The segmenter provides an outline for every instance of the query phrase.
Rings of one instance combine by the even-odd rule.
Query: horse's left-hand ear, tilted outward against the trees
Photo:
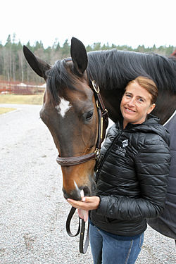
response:
[[[40,58],[37,58],[37,56],[34,56],[32,51],[30,51],[27,46],[23,46],[23,53],[32,70],[46,80],[46,70],[49,70],[51,66],[45,61],[42,61]]]

